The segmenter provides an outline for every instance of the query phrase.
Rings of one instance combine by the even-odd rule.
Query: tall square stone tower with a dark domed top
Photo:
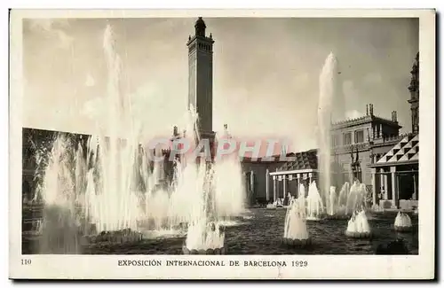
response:
[[[188,37],[188,108],[198,113],[201,136],[212,133],[213,126],[213,39],[205,35],[206,25],[199,17],[195,33]]]

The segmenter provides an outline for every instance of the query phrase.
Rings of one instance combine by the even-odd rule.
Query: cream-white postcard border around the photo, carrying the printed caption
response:
[[[200,267],[118,267],[122,259],[186,259],[187,256],[99,256],[99,255],[30,255],[32,265],[22,266],[21,256],[21,19],[49,17],[419,17],[420,26],[420,190],[419,255],[232,255],[207,256],[218,260],[306,260],[306,269],[291,267],[235,269]],[[101,279],[430,279],[434,276],[434,213],[435,213],[435,14],[431,10],[270,10],[270,11],[13,11],[11,17],[11,104],[10,104],[10,277],[12,278],[101,278]],[[412,59],[413,60],[413,59]],[[188,256],[189,257],[189,256]],[[202,258],[202,257],[194,257]]]

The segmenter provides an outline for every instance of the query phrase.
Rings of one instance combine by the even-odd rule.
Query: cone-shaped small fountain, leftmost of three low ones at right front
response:
[[[312,244],[305,223],[305,206],[300,204],[300,201],[293,201],[287,209],[282,238],[285,245],[300,247]]]

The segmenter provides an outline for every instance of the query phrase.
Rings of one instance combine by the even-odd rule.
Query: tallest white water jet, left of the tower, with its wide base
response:
[[[139,179],[136,169],[147,165],[144,159],[147,155],[139,150],[140,130],[131,118],[129,97],[121,93],[122,64],[115,46],[113,29],[107,25],[103,35],[108,72],[106,131],[102,135],[91,136],[88,144],[87,167],[91,169],[84,201],[86,217],[96,224],[99,231],[136,230],[138,220],[143,217],[139,206],[141,191],[137,191],[139,181],[146,185],[149,183],[147,179]]]

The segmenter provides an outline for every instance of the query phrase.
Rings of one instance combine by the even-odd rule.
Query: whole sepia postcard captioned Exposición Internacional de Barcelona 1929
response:
[[[433,10],[13,10],[10,47],[11,278],[435,276]]]

